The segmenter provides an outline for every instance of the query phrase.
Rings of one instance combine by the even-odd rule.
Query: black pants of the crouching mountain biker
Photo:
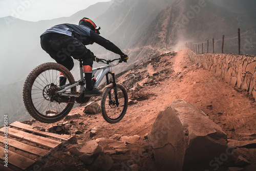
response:
[[[83,66],[93,66],[94,58],[87,53],[87,48],[73,36],[58,33],[46,33],[41,36],[41,47],[57,63],[68,70],[74,67],[74,59],[82,59]],[[72,56],[72,57],[71,57]]]

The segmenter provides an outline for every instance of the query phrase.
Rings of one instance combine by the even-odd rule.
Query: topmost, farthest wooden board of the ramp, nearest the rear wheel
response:
[[[24,129],[26,131],[30,131],[30,132],[33,132],[33,133],[36,133],[36,134],[39,134],[39,135],[45,135],[45,136],[48,136],[48,137],[58,138],[58,139],[61,139],[61,140],[66,140],[66,141],[68,141],[71,138],[71,136],[66,137],[66,135],[62,136],[62,135],[58,135],[58,134],[39,131],[39,130],[34,129],[34,127],[31,126],[31,125],[21,123],[21,122],[17,122],[17,121],[11,123],[10,126],[17,127],[19,129]]]

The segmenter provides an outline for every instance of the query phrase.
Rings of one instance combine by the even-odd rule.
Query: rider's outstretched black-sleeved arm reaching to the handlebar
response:
[[[92,40],[96,42],[96,44],[99,44],[105,49],[112,51],[116,54],[124,55],[124,53],[116,45],[114,45],[113,42],[111,42],[110,40],[107,40],[104,37],[101,37],[100,35],[98,35],[93,31],[91,31],[90,34],[91,34]]]

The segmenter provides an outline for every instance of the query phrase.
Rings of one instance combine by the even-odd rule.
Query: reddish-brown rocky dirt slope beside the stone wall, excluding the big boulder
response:
[[[166,53],[146,60],[135,68],[121,73],[117,80],[130,90],[129,108],[119,123],[109,124],[99,113],[84,113],[84,106],[73,109],[69,118],[56,124],[42,124],[34,120],[27,121],[27,123],[38,129],[58,134],[76,135],[78,144],[95,139],[104,148],[104,152],[111,156],[113,160],[111,170],[125,170],[131,167],[132,170],[136,168],[156,170],[153,149],[146,135],[151,132],[158,113],[176,99],[193,103],[202,110],[222,128],[229,141],[255,140],[256,138],[254,136],[256,132],[254,100],[250,99],[245,92],[233,89],[214,73],[192,63],[185,50],[177,54]],[[100,102],[99,98],[93,100]],[[67,126],[61,129],[62,124]],[[56,130],[58,126],[60,129]],[[119,140],[120,137],[123,137],[121,138],[123,141],[127,140],[127,137],[133,141],[123,143]],[[118,144],[122,145],[118,146]],[[58,166],[62,170],[88,169],[91,165],[82,162],[81,156],[71,150],[73,146],[76,145],[67,145],[63,151],[56,152],[54,156],[58,157],[54,157],[43,168],[57,170],[53,167]],[[98,149],[97,145],[96,148]],[[219,165],[218,170],[227,170],[228,167],[237,166],[236,160],[241,156],[250,164],[241,165],[240,163],[240,167],[252,171],[256,166],[255,153],[253,143],[251,146],[240,144],[234,150],[231,163]],[[104,158],[104,160],[107,159]],[[108,160],[112,162],[110,158]],[[201,169],[189,170],[212,168],[209,165]]]

